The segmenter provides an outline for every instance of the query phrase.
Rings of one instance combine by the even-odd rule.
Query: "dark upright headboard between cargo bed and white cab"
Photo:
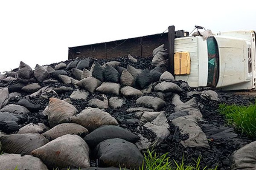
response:
[[[175,40],[175,26],[169,26],[168,28],[168,57],[169,64],[168,70],[169,72],[175,76],[174,74],[174,40]]]

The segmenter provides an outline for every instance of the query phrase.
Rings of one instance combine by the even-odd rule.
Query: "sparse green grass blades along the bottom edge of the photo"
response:
[[[195,161],[195,165],[185,164],[184,159],[178,163],[174,161],[172,164],[171,158],[168,157],[168,153],[165,153],[161,156],[157,156],[154,150],[148,150],[148,153],[144,153],[143,167],[140,170],[217,170],[217,166],[213,169],[208,169],[207,167],[200,167],[201,156],[198,157]]]

